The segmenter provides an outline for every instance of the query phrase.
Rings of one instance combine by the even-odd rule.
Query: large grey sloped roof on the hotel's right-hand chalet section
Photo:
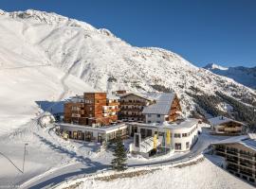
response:
[[[143,109],[144,114],[164,114],[167,115],[170,112],[171,105],[174,100],[174,93],[160,94],[155,100],[155,104],[145,107]]]

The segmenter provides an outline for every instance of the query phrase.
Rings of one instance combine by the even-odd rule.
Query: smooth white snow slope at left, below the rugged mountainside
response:
[[[52,66],[40,46],[27,42],[25,29],[25,24],[0,16],[0,134],[35,117],[38,101],[58,101],[93,90],[80,78]]]

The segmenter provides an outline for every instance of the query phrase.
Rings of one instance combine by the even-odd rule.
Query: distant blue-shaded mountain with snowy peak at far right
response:
[[[220,65],[210,63],[204,67],[210,72],[234,79],[247,87],[256,89],[256,66],[247,68],[244,66],[225,68]]]

